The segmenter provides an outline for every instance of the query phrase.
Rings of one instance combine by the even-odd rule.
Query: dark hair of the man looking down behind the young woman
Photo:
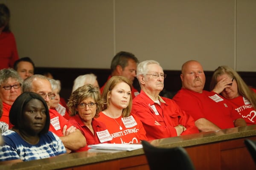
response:
[[[113,57],[111,61],[111,71],[113,72],[114,70],[116,70],[117,65],[120,65],[122,69],[124,69],[128,65],[128,59],[132,59],[136,63],[139,62],[139,60],[137,59],[137,57],[135,57],[134,54],[125,51],[120,51]]]

